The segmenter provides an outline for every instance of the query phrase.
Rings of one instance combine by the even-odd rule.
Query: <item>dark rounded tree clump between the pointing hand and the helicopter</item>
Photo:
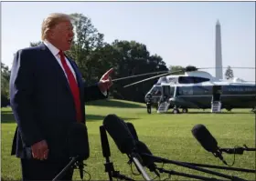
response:
[[[115,78],[168,70],[162,57],[150,55],[144,44],[135,41],[115,40],[112,47],[112,55],[115,56],[112,63],[116,65]],[[123,88],[123,85],[129,85],[152,76],[154,75],[144,75],[117,82],[113,85],[113,89],[118,95],[116,94],[114,97],[118,96],[118,98],[124,97],[127,100],[144,102],[144,95],[155,84],[156,78],[127,88]]]

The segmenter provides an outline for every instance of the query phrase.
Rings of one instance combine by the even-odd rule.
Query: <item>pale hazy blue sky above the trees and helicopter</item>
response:
[[[2,2],[1,61],[40,40],[40,25],[53,12],[80,13],[112,43],[135,40],[166,65],[215,66],[215,25],[219,19],[223,66],[255,67],[254,2]],[[208,70],[215,75],[214,70]],[[223,70],[223,74],[225,69]],[[255,70],[234,69],[255,80]]]

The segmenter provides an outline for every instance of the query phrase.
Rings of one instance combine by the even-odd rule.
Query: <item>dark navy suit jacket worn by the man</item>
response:
[[[69,59],[80,87],[83,123],[84,103],[103,99],[98,85],[86,86],[78,66]],[[76,121],[68,80],[55,56],[44,44],[16,52],[10,78],[10,102],[17,128],[12,153],[31,156],[30,146],[47,140],[48,157],[67,156],[67,132]]]

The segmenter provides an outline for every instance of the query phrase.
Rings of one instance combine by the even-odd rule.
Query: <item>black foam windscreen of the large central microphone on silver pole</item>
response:
[[[135,147],[133,136],[121,118],[116,115],[108,115],[103,120],[103,126],[123,154],[131,154],[133,152]]]

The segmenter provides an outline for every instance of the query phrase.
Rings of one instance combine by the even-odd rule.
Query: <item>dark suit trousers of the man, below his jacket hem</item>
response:
[[[56,161],[37,159],[21,159],[22,180],[53,180],[59,172],[69,164],[69,160]],[[73,169],[71,168],[61,180],[72,180]]]

